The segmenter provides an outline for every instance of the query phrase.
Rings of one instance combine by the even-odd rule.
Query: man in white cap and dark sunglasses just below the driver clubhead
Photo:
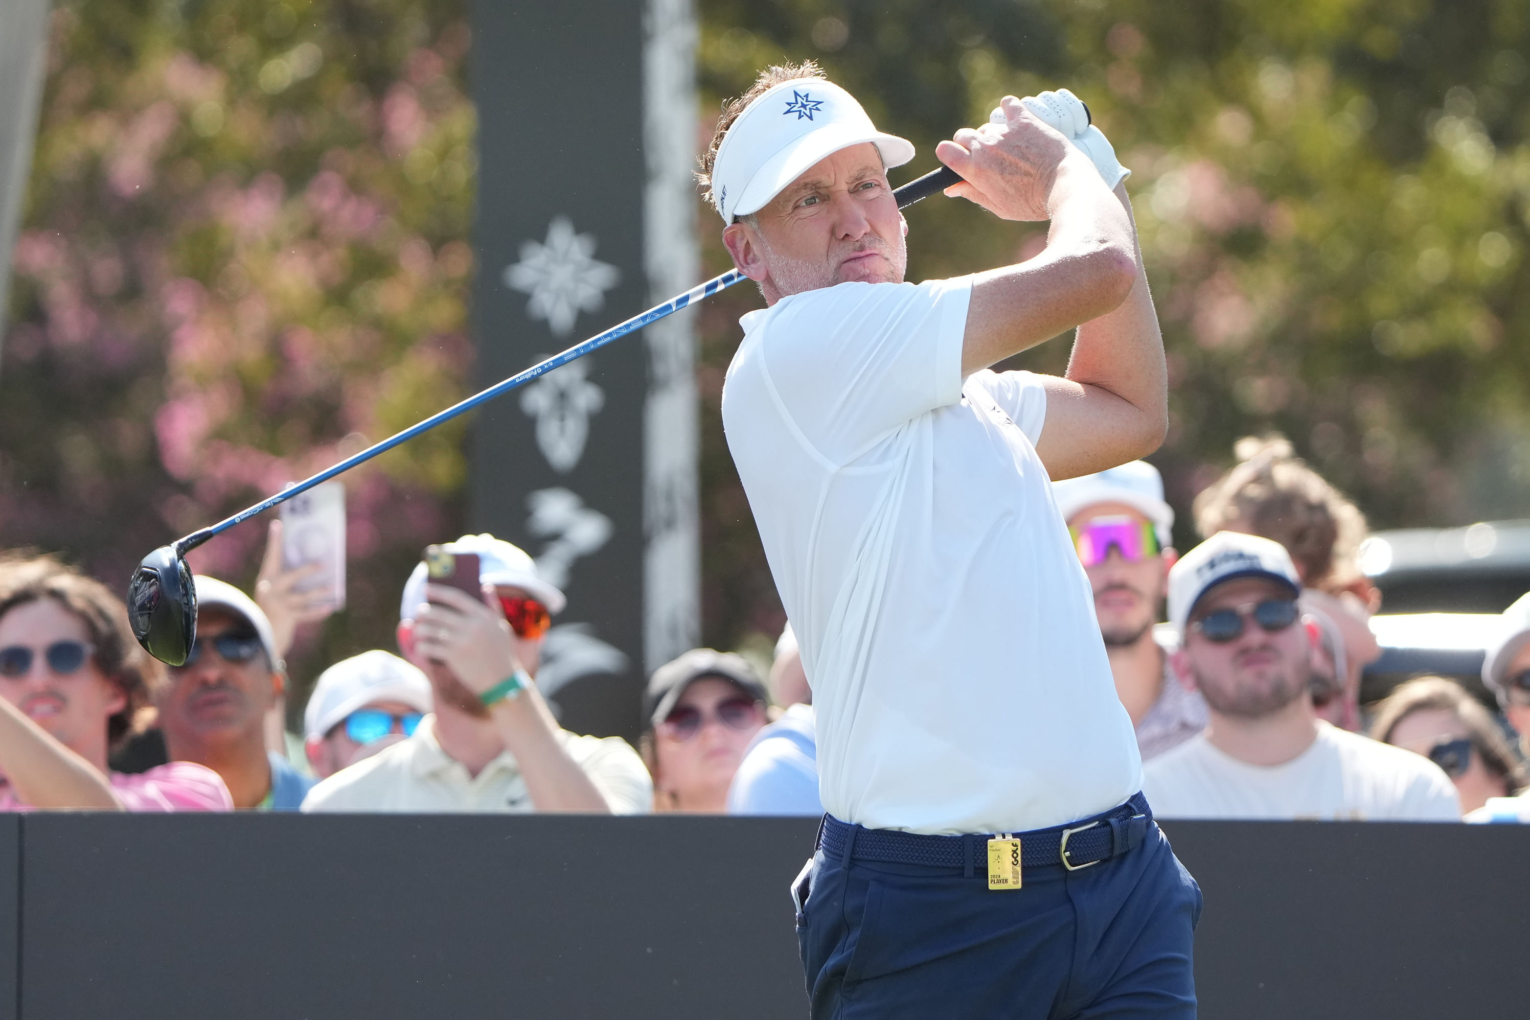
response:
[[[196,577],[196,641],[155,699],[173,760],[223,777],[234,806],[297,810],[314,780],[266,749],[266,714],[286,688],[271,621],[233,584]]]

